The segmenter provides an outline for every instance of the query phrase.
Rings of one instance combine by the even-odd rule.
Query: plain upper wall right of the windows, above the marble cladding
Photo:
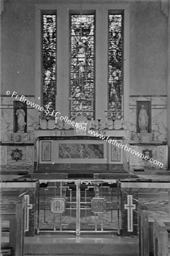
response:
[[[167,18],[159,1],[130,6],[130,95],[166,95]]]

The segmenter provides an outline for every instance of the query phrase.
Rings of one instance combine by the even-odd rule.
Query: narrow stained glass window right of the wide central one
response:
[[[109,118],[122,117],[122,15],[109,15]]]

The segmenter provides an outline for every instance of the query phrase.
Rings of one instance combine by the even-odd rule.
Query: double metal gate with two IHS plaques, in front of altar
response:
[[[39,180],[37,234],[120,233],[117,180]]]

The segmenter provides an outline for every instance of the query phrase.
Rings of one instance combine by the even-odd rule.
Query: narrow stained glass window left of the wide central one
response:
[[[43,106],[50,112],[56,109],[56,30],[56,15],[42,15]]]

